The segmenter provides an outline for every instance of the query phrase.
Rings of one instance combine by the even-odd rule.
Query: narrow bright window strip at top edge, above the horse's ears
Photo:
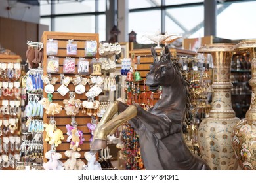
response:
[[[129,9],[148,8],[161,6],[161,0],[147,1],[147,0],[129,0]]]

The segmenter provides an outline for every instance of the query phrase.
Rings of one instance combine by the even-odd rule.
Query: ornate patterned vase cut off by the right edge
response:
[[[249,51],[251,57],[251,105],[246,116],[234,126],[232,144],[242,169],[256,169],[256,39],[241,41],[235,50]]]

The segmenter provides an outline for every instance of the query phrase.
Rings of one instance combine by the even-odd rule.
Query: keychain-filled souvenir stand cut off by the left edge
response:
[[[20,63],[20,56],[0,55],[0,169],[15,169],[20,161]]]

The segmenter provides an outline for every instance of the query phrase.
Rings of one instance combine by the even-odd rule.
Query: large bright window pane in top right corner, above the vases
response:
[[[225,39],[255,38],[256,2],[232,3],[217,16],[217,37]]]

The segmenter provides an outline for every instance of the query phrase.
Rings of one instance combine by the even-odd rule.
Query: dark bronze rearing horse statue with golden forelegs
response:
[[[189,88],[179,63],[171,60],[168,46],[160,57],[154,48],[151,52],[154,62],[146,75],[146,85],[153,92],[162,86],[161,99],[148,111],[137,103],[129,106],[121,101],[111,103],[95,129],[91,150],[105,148],[107,135],[129,120],[139,134],[140,154],[146,169],[210,169],[199,156],[190,152],[183,139]],[[112,118],[117,112],[121,114]]]

